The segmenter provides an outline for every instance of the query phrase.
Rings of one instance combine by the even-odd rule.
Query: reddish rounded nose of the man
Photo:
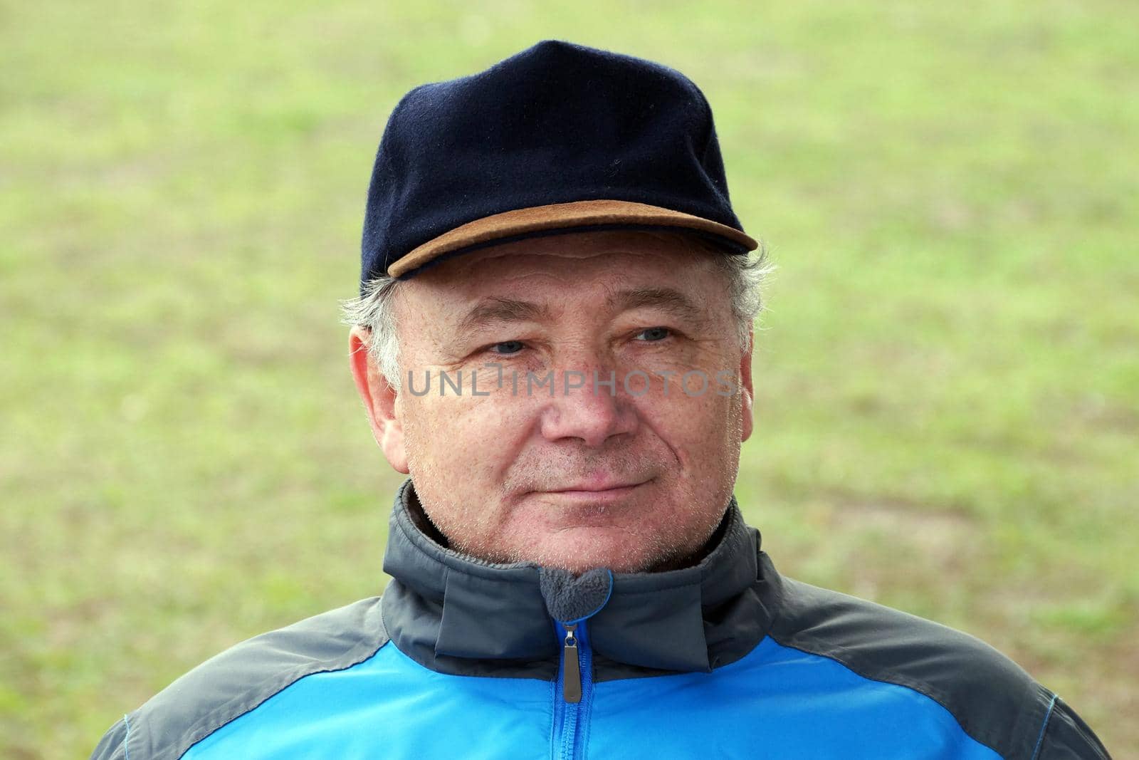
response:
[[[554,398],[541,416],[547,440],[572,438],[600,448],[613,436],[637,432],[637,410],[615,370],[597,365],[565,369],[554,373]]]

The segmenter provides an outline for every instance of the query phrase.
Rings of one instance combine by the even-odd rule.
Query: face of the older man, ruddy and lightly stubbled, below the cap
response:
[[[680,235],[464,254],[400,286],[399,393],[353,332],[358,387],[453,548],[572,572],[667,567],[711,537],[752,431],[751,350],[726,285]]]

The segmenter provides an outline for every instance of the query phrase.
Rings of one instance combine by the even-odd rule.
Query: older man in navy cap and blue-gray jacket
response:
[[[678,72],[547,41],[409,92],[351,365],[409,474],[383,599],[251,639],[97,758],[1106,758],[992,648],[780,577],[732,496],[763,256]]]

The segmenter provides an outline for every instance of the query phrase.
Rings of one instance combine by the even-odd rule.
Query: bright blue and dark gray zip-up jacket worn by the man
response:
[[[713,541],[661,573],[489,564],[431,538],[408,480],[383,599],[208,660],[92,757],[1108,757],[980,640],[780,577],[735,499]]]

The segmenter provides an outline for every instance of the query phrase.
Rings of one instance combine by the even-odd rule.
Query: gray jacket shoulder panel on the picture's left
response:
[[[207,660],[115,724],[92,760],[177,760],[312,673],[344,670],[388,640],[379,597],[262,634]]]

